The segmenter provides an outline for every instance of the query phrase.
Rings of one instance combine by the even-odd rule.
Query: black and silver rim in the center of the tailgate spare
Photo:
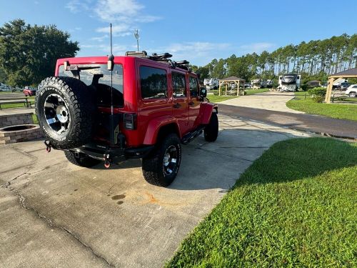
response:
[[[58,94],[50,94],[44,101],[44,116],[49,128],[57,134],[64,134],[69,129],[71,117],[64,99]]]

